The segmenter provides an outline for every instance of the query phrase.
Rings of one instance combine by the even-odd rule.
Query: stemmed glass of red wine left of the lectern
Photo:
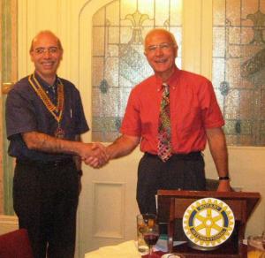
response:
[[[145,225],[143,228],[143,238],[149,248],[149,257],[152,257],[153,247],[155,246],[159,238],[159,226],[157,224],[155,214],[144,214],[143,215]]]

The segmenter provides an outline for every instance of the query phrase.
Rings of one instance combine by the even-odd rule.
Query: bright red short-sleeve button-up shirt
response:
[[[201,75],[176,68],[170,85],[171,144],[173,153],[201,151],[206,146],[206,129],[224,125],[212,83]],[[140,136],[140,150],[157,154],[157,132],[163,88],[151,76],[133,87],[120,132]]]

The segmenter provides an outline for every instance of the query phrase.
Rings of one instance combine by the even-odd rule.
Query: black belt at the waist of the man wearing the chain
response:
[[[16,162],[18,164],[34,166],[34,167],[39,167],[40,169],[43,169],[43,170],[48,170],[48,169],[64,167],[66,165],[69,165],[70,163],[73,163],[73,160],[72,158],[67,158],[67,159],[61,159],[61,160],[55,160],[55,161],[49,161],[49,162],[41,162],[41,161],[17,159]]]

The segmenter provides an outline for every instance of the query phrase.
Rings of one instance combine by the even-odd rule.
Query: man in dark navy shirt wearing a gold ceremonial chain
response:
[[[63,48],[42,31],[30,49],[33,74],[19,80],[6,100],[9,155],[16,158],[13,204],[34,257],[72,258],[81,160],[107,160],[99,143],[83,143],[89,128],[79,91],[57,76]]]

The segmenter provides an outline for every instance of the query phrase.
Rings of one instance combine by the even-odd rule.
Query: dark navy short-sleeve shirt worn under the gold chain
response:
[[[47,84],[37,74],[35,77],[46,90]],[[86,133],[89,128],[78,89],[70,81],[60,80],[64,85],[64,111],[60,127],[64,130],[65,140],[74,140],[76,135]],[[57,120],[30,85],[28,76],[19,80],[7,95],[5,118],[7,138],[10,140],[10,156],[42,162],[69,157],[66,154],[50,154],[28,149],[22,139],[21,133],[34,131],[54,136],[58,127]]]

